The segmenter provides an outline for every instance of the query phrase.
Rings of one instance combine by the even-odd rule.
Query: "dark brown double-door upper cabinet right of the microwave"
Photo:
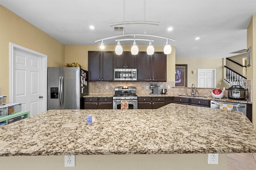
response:
[[[166,81],[166,54],[155,52],[148,55],[146,52],[140,52],[137,68],[138,81]]]

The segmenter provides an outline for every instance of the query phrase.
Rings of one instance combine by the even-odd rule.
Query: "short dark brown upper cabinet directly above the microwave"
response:
[[[136,69],[137,55],[132,55],[130,51],[123,51],[121,55],[114,54],[115,69]]]

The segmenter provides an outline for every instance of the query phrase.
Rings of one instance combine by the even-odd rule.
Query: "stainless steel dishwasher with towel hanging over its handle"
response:
[[[211,101],[211,108],[220,109],[220,103],[233,105],[233,111],[238,111],[244,113],[246,115],[246,104],[244,103],[232,103],[232,102],[224,102],[224,101]]]

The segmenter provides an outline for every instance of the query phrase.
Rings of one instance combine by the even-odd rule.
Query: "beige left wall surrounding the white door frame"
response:
[[[9,96],[9,43],[47,55],[48,67],[64,65],[64,44],[0,5],[0,87]]]

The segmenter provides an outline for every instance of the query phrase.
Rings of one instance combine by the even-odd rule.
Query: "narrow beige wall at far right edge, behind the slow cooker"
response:
[[[256,125],[256,14],[254,14],[251,18],[250,24],[247,28],[247,48],[251,46],[251,66],[247,67],[247,83],[248,87],[250,87],[251,99],[252,99],[252,123]],[[254,73],[254,74],[253,74]],[[254,81],[253,81],[254,79]]]

